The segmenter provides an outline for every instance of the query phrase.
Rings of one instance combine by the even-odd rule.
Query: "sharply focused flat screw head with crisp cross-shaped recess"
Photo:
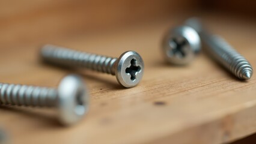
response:
[[[136,86],[144,73],[144,62],[134,51],[124,52],[115,65],[115,76],[118,82],[126,88]]]

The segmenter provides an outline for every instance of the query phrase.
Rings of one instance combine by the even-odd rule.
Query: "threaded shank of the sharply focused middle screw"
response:
[[[114,68],[117,58],[79,52],[78,50],[52,45],[46,45],[41,49],[41,57],[44,61],[53,62],[55,64],[85,67],[102,73],[115,75]]]

